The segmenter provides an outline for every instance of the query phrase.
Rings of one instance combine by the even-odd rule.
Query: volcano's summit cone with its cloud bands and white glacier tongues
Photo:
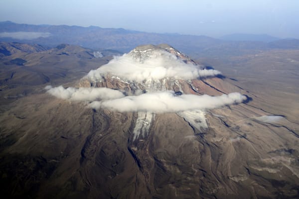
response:
[[[133,130],[135,140],[139,136],[140,139],[145,139],[148,135],[155,113],[177,113],[192,123],[192,127],[201,129],[208,127],[204,117],[205,109],[246,100],[246,96],[240,93],[209,96],[207,94],[213,92],[207,91],[212,87],[208,88],[206,85],[201,87],[206,90],[202,95],[195,85],[207,84],[202,79],[219,74],[221,73],[217,70],[197,65],[169,45],[144,45],[90,71],[79,82],[78,89],[46,89],[49,89],[48,93],[51,95],[62,99],[92,100],[88,106],[95,109],[138,112]],[[82,85],[89,88],[82,88]]]

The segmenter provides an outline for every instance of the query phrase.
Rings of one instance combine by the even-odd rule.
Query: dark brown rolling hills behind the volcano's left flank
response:
[[[10,52],[0,59],[0,104],[43,93],[42,89],[49,84],[73,85],[90,70],[112,59],[112,56],[95,58],[89,49],[66,44],[52,49],[38,46],[35,51],[32,49],[36,46],[28,44],[1,42],[0,47]]]

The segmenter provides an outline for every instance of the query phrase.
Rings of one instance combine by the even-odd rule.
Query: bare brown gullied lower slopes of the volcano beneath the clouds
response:
[[[93,110],[43,92],[15,100],[0,114],[1,193],[49,199],[297,198],[299,125],[289,119],[292,114],[278,123],[258,121],[279,109],[264,108],[267,95],[252,93],[252,85],[232,83],[243,82],[193,81],[199,93],[252,98],[207,111],[208,129],[196,129],[175,113],[156,114],[149,134],[135,141],[138,113]]]

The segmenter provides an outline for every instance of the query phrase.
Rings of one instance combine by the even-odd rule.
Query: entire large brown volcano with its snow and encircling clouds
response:
[[[47,53],[74,58],[68,48]],[[44,84],[2,110],[3,196],[299,195],[299,124],[258,106],[262,95],[220,71],[160,44],[138,46],[82,76]]]

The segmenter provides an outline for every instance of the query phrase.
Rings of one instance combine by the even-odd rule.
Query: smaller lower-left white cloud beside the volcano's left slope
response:
[[[125,97],[120,91],[108,88],[73,88],[46,86],[47,93],[64,100],[94,101]]]

